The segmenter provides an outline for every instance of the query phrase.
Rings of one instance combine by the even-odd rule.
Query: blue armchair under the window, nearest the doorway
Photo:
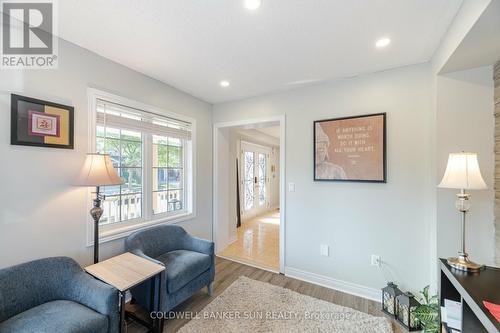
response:
[[[127,251],[166,266],[162,275],[161,311],[170,311],[201,288],[212,294],[215,276],[214,243],[190,236],[182,227],[163,225],[138,231],[125,240]],[[150,306],[151,282],[131,290],[144,308]]]

